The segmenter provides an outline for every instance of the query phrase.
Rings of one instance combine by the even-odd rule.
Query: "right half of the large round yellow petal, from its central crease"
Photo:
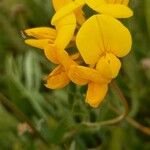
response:
[[[105,49],[118,57],[124,57],[132,46],[129,30],[117,19],[107,15],[98,15]]]

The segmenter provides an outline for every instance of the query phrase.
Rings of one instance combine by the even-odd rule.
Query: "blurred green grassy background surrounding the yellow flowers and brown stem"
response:
[[[129,116],[150,127],[150,0],[131,0],[134,17],[125,20],[133,36],[132,52],[116,79]],[[122,105],[110,89],[104,103],[92,109],[85,87],[70,84],[48,90],[43,78],[53,65],[41,50],[24,44],[22,30],[50,26],[50,0],[0,0],[0,150],[150,150],[150,135],[126,119],[116,125],[85,127],[117,116]]]

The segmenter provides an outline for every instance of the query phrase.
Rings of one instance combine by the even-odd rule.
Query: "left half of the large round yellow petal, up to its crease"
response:
[[[105,51],[101,32],[101,26],[94,15],[82,25],[77,34],[76,44],[87,64],[95,64]]]

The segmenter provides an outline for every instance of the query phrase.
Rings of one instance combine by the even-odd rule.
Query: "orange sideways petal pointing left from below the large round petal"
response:
[[[99,84],[110,82],[108,79],[103,78],[101,74],[95,69],[79,65],[72,65],[69,69],[68,76],[76,84],[78,84],[76,82],[77,79],[85,81],[93,81]]]

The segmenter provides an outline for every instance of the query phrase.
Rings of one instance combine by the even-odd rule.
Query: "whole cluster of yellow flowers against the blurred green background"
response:
[[[46,87],[58,89],[70,81],[88,86],[86,102],[98,107],[108,84],[121,68],[120,57],[131,50],[129,30],[118,20],[133,15],[129,0],[52,0],[56,11],[51,24],[25,30],[28,45],[40,48],[58,66],[48,75]],[[83,7],[96,13],[85,17]],[[71,53],[70,48],[76,49]]]

